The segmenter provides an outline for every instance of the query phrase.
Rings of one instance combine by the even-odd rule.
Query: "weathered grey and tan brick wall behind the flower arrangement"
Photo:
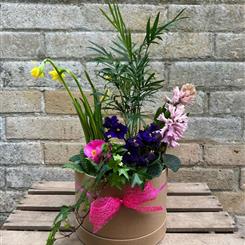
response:
[[[101,2],[101,1],[97,1]],[[134,0],[122,11],[142,37],[145,20],[186,8],[191,17],[153,48],[152,67],[166,82],[194,83],[198,98],[189,130],[176,150],[183,161],[176,181],[205,181],[226,209],[245,213],[245,38],[243,0]],[[132,4],[129,4],[131,2]],[[82,142],[79,121],[58,83],[30,76],[32,61],[46,56],[82,71],[96,68],[89,40],[107,46],[115,36],[96,1],[3,1],[0,29],[0,219],[33,181],[67,180],[60,166]],[[92,75],[98,86],[101,81]],[[88,88],[87,83],[83,83]],[[146,105],[149,113],[163,101]]]

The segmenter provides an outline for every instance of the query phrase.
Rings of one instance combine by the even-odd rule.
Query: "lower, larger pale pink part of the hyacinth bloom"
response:
[[[183,137],[187,129],[188,117],[185,113],[184,105],[171,105],[168,108],[170,118],[166,118],[164,113],[160,114],[157,120],[165,123],[165,126],[159,130],[162,141],[171,147],[176,147],[178,140]]]

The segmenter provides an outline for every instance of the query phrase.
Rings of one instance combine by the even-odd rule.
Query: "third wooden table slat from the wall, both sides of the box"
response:
[[[50,229],[57,212],[16,210],[3,225],[9,230]],[[168,232],[234,232],[235,223],[227,212],[168,213]]]

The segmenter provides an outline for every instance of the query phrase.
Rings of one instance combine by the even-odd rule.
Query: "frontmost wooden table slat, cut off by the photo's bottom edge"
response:
[[[0,231],[1,245],[44,245],[48,232]],[[1,241],[1,240],[0,240]],[[55,245],[82,245],[76,234],[59,239]],[[235,234],[166,234],[158,245],[244,245],[245,241]]]

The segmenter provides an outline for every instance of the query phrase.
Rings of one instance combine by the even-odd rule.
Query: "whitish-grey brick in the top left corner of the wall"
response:
[[[79,6],[3,3],[2,27],[11,29],[82,28],[84,18]]]

